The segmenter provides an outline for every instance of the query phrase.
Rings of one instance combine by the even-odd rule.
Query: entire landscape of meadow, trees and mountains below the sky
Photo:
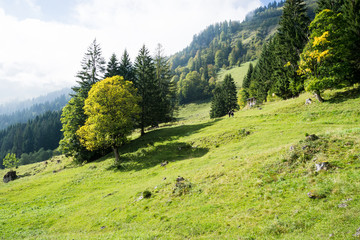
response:
[[[360,238],[359,0],[153,50],[94,39],[71,91],[1,113],[0,239]]]

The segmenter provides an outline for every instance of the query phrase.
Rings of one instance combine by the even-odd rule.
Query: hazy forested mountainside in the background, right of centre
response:
[[[276,27],[284,2],[270,3],[251,13],[246,21],[224,21],[195,35],[191,44],[171,57],[180,104],[207,99],[221,68],[240,66],[257,58]]]

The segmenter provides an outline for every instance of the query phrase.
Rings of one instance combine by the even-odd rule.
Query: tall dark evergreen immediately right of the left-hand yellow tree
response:
[[[149,50],[143,45],[135,60],[135,87],[141,96],[140,128],[141,135],[145,127],[158,124],[158,103],[161,102],[160,89],[156,81],[155,65]]]

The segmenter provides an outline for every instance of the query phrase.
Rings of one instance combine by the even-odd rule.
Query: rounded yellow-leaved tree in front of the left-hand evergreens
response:
[[[114,76],[95,83],[85,100],[85,125],[78,131],[88,150],[111,147],[119,162],[118,148],[127,141],[140,113],[140,97],[132,82]]]

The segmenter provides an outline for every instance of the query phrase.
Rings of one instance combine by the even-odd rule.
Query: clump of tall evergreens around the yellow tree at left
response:
[[[114,103],[109,103],[109,101],[100,103],[94,100],[100,99],[101,101],[105,101],[109,97],[117,96],[117,94],[120,94],[124,90],[122,87],[109,88],[113,89],[109,90],[113,92],[109,92],[106,96],[99,98],[94,97],[92,100],[88,98],[92,87],[94,85],[98,87],[102,86],[98,83],[101,83],[100,81],[104,80],[104,78],[106,78],[104,82],[107,82],[111,77],[122,76],[137,89],[135,98],[140,99],[138,102],[140,111],[137,116],[133,117],[131,122],[135,123],[134,127],[140,128],[141,135],[145,134],[147,127],[156,127],[162,122],[173,119],[173,113],[176,107],[176,85],[172,82],[169,61],[163,52],[164,50],[159,44],[156,49],[156,54],[151,56],[149,50],[144,45],[139,50],[139,54],[134,63],[131,62],[125,50],[120,60],[118,60],[116,54],[113,54],[106,64],[102,57],[100,45],[97,44],[96,40],[92,42],[81,62],[82,69],[77,74],[78,85],[73,87],[74,94],[72,95],[72,99],[64,107],[61,115],[64,137],[60,141],[60,149],[66,156],[72,156],[77,162],[91,161],[110,150],[104,147],[105,145],[108,147],[111,146],[116,153],[116,148],[119,147],[119,144],[121,145],[125,142],[124,139],[126,139],[127,136],[124,136],[124,133],[133,130],[123,129],[124,127],[121,125],[121,123],[125,121],[125,116],[130,114],[130,112],[119,115],[116,110],[118,106],[111,107],[111,104]],[[110,79],[109,82],[111,81]],[[122,80],[119,81],[121,82]],[[125,85],[127,86],[127,84],[124,84],[124,86]],[[119,86],[122,85],[120,84]],[[103,87],[105,87],[105,85]],[[103,91],[101,87],[99,88],[99,91]],[[96,94],[94,93],[94,95]],[[118,100],[124,100],[121,102],[126,102],[127,98],[130,98],[130,95],[127,97],[122,96],[121,98],[123,99]],[[90,119],[90,117],[86,115],[86,113],[88,113],[84,111],[86,101],[88,101],[88,104],[94,101],[87,109],[93,109],[97,104],[97,110],[94,110],[94,112],[99,114],[98,117]],[[106,111],[106,113],[102,113],[101,111]],[[118,122],[114,122],[114,119],[112,119],[115,115],[120,116],[116,117]],[[104,125],[102,125],[100,121],[104,121]],[[85,124],[87,124],[86,127]],[[107,131],[104,132],[100,128],[111,129],[111,133]],[[80,129],[82,129],[83,134],[79,131]],[[84,140],[89,137],[84,132],[92,135],[91,137],[93,137],[94,144],[90,144],[87,140]],[[80,138],[80,136],[82,136],[82,138]],[[112,142],[113,144],[104,144],[105,142]]]

